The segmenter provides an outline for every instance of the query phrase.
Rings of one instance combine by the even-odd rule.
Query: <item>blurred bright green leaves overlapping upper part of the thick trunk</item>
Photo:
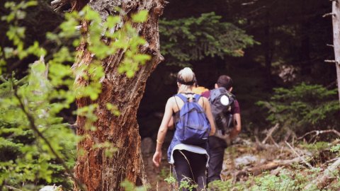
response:
[[[147,54],[140,54],[139,47],[145,45],[146,41],[138,35],[131,23],[124,23],[120,30],[115,30],[116,24],[121,23],[119,16],[108,16],[105,23],[101,22],[101,17],[96,11],[92,11],[89,7],[85,7],[81,11],[80,16],[91,21],[89,25],[89,51],[93,52],[98,59],[104,59],[118,50],[124,50],[123,61],[118,67],[118,72],[126,74],[128,77],[135,75],[140,64],[145,64],[151,57]],[[78,18],[80,19],[80,18]],[[147,19],[147,11],[143,10],[132,16],[132,21],[142,23]],[[103,28],[102,25],[106,26]],[[103,35],[107,40],[101,40]],[[108,40],[112,40],[108,43]],[[99,65],[99,64],[98,64]],[[96,98],[95,98],[96,99]]]

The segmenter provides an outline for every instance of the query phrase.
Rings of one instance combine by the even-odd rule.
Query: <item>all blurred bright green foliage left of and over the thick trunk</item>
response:
[[[60,33],[47,33],[47,39],[55,42],[51,52],[47,53],[39,42],[25,45],[26,28],[19,21],[26,16],[25,8],[36,4],[37,1],[6,2],[11,12],[1,17],[8,22],[6,35],[12,43],[0,47],[0,74],[3,74],[0,76],[0,190],[6,190],[6,186],[38,190],[46,184],[72,189],[74,183],[77,184],[72,173],[77,158],[76,145],[83,137],[74,134],[60,112],[69,109],[76,98],[98,98],[104,76],[102,59],[124,50],[123,64],[118,70],[132,77],[138,66],[150,58],[140,54],[139,47],[145,45],[145,40],[130,23],[115,29],[123,22],[119,17],[109,16],[102,22],[98,13],[88,6],[79,13],[66,13]],[[137,13],[134,22],[144,22],[146,13]],[[76,30],[80,21],[91,23],[85,39]],[[70,40],[74,47],[81,41],[89,44],[87,49],[94,55],[91,64],[71,69],[68,64],[74,62],[77,54],[70,51],[74,47],[64,46],[64,42]],[[15,74],[6,73],[6,66],[13,64],[13,60],[21,61],[30,55],[40,59],[30,64],[27,76],[18,80]],[[74,86],[75,76],[84,79],[86,85]],[[86,117],[85,128],[95,131],[97,108],[96,104],[87,105],[74,114]],[[113,115],[120,115],[112,103],[106,103],[106,108]],[[110,142],[96,144],[96,148],[103,149],[106,157],[116,151]],[[129,186],[128,183],[125,186]],[[145,189],[133,187],[133,190]]]

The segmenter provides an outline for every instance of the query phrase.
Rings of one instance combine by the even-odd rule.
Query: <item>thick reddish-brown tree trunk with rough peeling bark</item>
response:
[[[78,0],[81,4],[81,0]],[[74,2],[77,4],[77,1]],[[99,98],[92,101],[90,98],[77,100],[79,108],[96,103],[98,120],[94,124],[96,131],[84,129],[84,117],[77,117],[77,134],[88,135],[79,142],[77,150],[84,150],[84,155],[78,156],[74,173],[87,190],[124,190],[120,187],[123,180],[128,179],[135,185],[147,183],[142,154],[140,151],[140,134],[137,125],[137,108],[145,91],[145,83],[153,69],[162,61],[159,52],[158,19],[164,8],[164,0],[97,0],[89,1],[89,6],[101,14],[103,20],[115,13],[114,6],[130,16],[140,10],[149,11],[147,22],[134,23],[137,33],[147,40],[147,45],[140,47],[140,52],[150,54],[152,59],[140,66],[135,76],[129,79],[125,74],[118,74],[118,65],[123,60],[125,52],[120,50],[104,59],[101,64],[105,71],[105,78],[101,81],[102,92]],[[125,17],[128,21],[130,17]],[[88,23],[83,23],[86,28]],[[85,44],[85,43],[84,43]],[[73,67],[91,64],[91,52],[86,45],[78,47],[79,56]],[[78,79],[78,78],[77,78]],[[86,81],[78,79],[79,85]],[[106,103],[117,105],[120,116],[114,116],[106,109]],[[110,141],[118,149],[113,157],[108,158],[104,149],[94,149],[94,144]]]

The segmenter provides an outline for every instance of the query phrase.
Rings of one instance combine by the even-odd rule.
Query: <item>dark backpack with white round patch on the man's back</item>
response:
[[[209,102],[212,116],[214,117],[217,129],[223,134],[229,133],[232,125],[232,107],[234,107],[235,96],[224,87],[215,88],[210,91]]]

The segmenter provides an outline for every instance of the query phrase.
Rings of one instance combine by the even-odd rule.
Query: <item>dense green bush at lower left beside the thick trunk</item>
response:
[[[45,64],[35,62],[30,75],[20,83],[5,81],[1,84],[0,154],[6,156],[0,162],[1,185],[21,187],[22,183],[29,186],[53,181],[64,187],[72,186],[61,177],[64,167],[72,168],[74,164],[77,137],[57,116],[67,102],[51,103],[60,96],[56,96],[58,90],[45,79],[45,69]],[[33,127],[48,140],[57,156],[62,157],[64,166]]]

